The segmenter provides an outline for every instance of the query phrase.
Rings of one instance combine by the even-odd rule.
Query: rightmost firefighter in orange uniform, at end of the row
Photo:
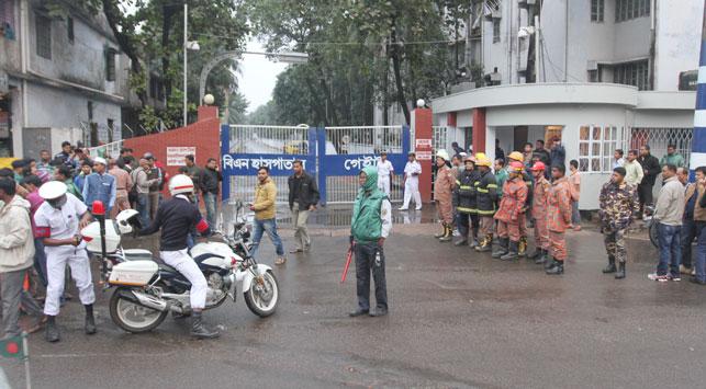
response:
[[[571,184],[564,176],[563,164],[551,168],[551,187],[547,196],[547,229],[549,230],[549,268],[547,274],[563,274],[567,260],[564,231],[571,228]]]

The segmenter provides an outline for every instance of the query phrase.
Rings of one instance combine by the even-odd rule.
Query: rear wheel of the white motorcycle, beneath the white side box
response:
[[[143,307],[125,298],[130,288],[117,288],[110,298],[110,317],[121,329],[132,333],[148,332],[156,329],[167,317],[168,311]]]

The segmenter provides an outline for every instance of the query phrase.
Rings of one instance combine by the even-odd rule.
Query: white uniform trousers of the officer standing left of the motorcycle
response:
[[[86,249],[74,247],[46,248],[46,273],[48,285],[46,287],[46,300],[44,301],[44,314],[59,314],[59,298],[64,294],[64,281],[66,279],[66,265],[71,267],[71,277],[78,288],[78,297],[82,305],[93,304],[93,279],[91,278],[91,266],[88,262]]]

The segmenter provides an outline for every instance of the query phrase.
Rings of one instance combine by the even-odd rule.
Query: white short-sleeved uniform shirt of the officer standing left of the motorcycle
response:
[[[56,209],[44,202],[34,214],[35,236],[37,238],[52,238],[52,239],[69,239],[75,237],[78,232],[78,224],[81,216],[88,211],[86,204],[80,202],[76,196],[70,193],[66,194],[66,204],[61,209]],[[48,228],[48,237],[46,229]],[[43,233],[44,232],[44,233]],[[81,241],[78,245],[79,249],[86,247],[86,242]],[[48,252],[66,249],[67,247],[46,247]],[[71,247],[74,249],[74,247]]]

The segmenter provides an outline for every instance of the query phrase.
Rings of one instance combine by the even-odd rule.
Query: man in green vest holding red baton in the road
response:
[[[360,190],[354,204],[350,224],[350,244],[356,253],[358,308],[350,317],[388,314],[388,287],[385,259],[382,251],[385,238],[392,230],[392,205],[384,192],[378,188],[378,170],[366,167],[358,175]],[[374,311],[370,310],[370,272],[376,282]]]

